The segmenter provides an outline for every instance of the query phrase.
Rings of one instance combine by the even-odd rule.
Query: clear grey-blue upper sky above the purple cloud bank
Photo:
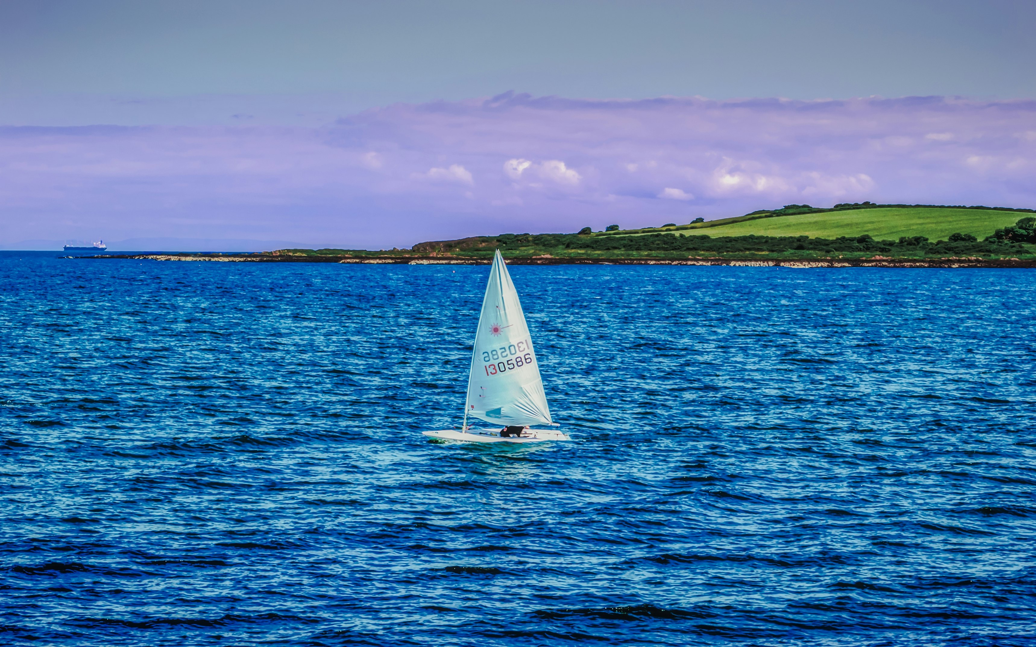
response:
[[[194,123],[239,107],[297,122],[508,90],[1019,98],[1036,88],[1034,27],[1036,3],[998,0],[7,0],[0,116]]]

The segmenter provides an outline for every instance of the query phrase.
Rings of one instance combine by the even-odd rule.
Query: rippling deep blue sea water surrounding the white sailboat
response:
[[[0,644],[1036,644],[1031,270],[0,256]]]

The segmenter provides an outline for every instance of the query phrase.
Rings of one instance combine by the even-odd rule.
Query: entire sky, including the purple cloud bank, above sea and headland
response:
[[[8,0],[0,245],[377,247],[810,196],[1033,206],[1018,174],[1036,158],[1034,27],[1036,3],[998,1]],[[507,91],[589,102],[488,100]],[[817,101],[875,95],[967,99]],[[650,99],[664,96],[703,98],[660,113]],[[799,117],[743,100],[769,97]],[[732,172],[770,184],[717,189]],[[372,213],[392,226],[372,229]]]

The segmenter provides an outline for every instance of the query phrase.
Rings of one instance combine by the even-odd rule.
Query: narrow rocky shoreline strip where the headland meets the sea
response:
[[[249,254],[249,255],[197,255],[197,254],[140,254],[140,255],[94,255],[67,257],[74,259],[134,259],[149,261],[214,261],[235,263],[346,263],[365,265],[489,265],[492,259],[448,258],[436,255],[420,256],[306,256],[288,254]],[[871,257],[866,259],[721,259],[721,258],[687,258],[687,259],[628,259],[628,258],[557,258],[551,256],[513,257],[508,259],[509,265],[728,265],[733,267],[944,267],[944,268],[982,268],[982,267],[1036,267],[1036,260],[1019,259],[980,259],[944,258],[944,259],[894,259]]]

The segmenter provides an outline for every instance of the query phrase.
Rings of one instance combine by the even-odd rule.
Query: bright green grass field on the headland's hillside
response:
[[[684,231],[687,235],[707,236],[810,236],[837,238],[870,234],[877,240],[897,240],[900,236],[927,236],[946,240],[950,234],[971,234],[982,240],[1001,227],[1014,225],[1030,215],[1016,211],[978,209],[859,209],[806,213],[732,223],[720,227]]]

